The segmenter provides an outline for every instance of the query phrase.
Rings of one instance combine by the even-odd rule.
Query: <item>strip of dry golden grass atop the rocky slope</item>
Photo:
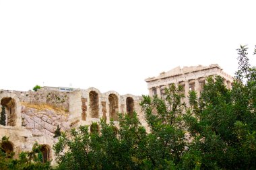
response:
[[[53,110],[59,114],[62,114],[62,115],[67,115],[67,112],[65,111],[64,108],[58,108],[57,106],[55,105],[50,105],[48,103],[26,103],[26,102],[21,102],[22,105],[24,105],[26,108],[33,108],[33,109],[36,109],[36,110],[41,110],[41,111],[44,111],[44,110]]]

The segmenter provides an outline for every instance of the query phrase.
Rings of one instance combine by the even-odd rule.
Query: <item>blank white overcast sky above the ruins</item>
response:
[[[177,66],[256,65],[256,1],[1,1],[0,89],[34,85],[148,94]],[[44,82],[44,83],[43,83]]]

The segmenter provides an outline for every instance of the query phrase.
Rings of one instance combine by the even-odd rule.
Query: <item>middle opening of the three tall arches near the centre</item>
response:
[[[117,113],[119,112],[118,97],[115,94],[108,95],[109,117],[113,120],[118,120]]]

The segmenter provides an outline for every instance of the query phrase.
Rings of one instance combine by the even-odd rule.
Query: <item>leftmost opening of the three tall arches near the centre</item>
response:
[[[90,91],[90,113],[92,118],[98,118],[98,93]]]

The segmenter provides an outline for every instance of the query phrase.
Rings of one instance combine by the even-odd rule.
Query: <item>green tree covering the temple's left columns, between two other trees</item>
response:
[[[146,153],[147,169],[174,169],[179,165],[186,145],[183,112],[183,87],[174,84],[165,89],[164,97],[143,96],[142,110],[150,126]]]

